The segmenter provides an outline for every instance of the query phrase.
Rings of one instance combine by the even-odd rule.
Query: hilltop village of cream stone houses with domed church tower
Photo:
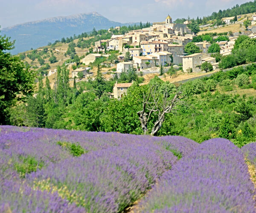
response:
[[[239,18],[245,20],[243,17]],[[223,18],[222,26],[235,23],[234,19],[235,17]],[[253,25],[256,21],[256,15],[250,19]],[[239,21],[236,22],[239,23]],[[212,54],[218,52],[221,57],[230,55],[240,34],[229,32],[227,35],[226,33],[216,43],[207,39],[196,42],[195,38],[198,35],[190,29],[190,26],[190,20],[183,23],[173,23],[172,17],[168,15],[164,22],[155,22],[149,27],[131,30],[124,35],[112,35],[110,39],[98,40],[94,43],[94,48],[90,49],[90,52],[88,51],[83,58],[80,58],[81,66],[73,69],[70,77],[79,78],[76,81],[87,81],[88,78],[93,78],[95,73],[91,72],[90,69],[96,60],[104,66],[102,59],[111,61],[111,64],[108,64],[108,68],[111,68],[107,70],[111,70],[111,75],[108,78],[113,78],[114,75],[120,76],[122,72],[131,69],[140,76],[153,73],[163,75],[163,73],[168,72],[170,67],[176,71],[181,70],[183,73],[203,73],[218,70],[219,60],[216,61],[216,56]],[[113,31],[119,32],[120,27],[108,29],[108,32]],[[217,39],[217,37],[216,35],[213,38]],[[256,35],[252,33],[249,37],[254,38]],[[190,48],[194,48],[194,50],[189,53],[186,47],[190,44]],[[218,51],[212,51],[216,48],[216,44]],[[114,57],[113,52],[115,53],[113,54]],[[53,75],[55,72],[57,72],[56,69],[50,70],[48,75]],[[109,74],[109,72],[102,74]],[[110,96],[121,98],[131,85],[131,82],[116,82]]]

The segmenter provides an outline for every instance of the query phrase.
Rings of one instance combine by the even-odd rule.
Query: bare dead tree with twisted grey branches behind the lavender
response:
[[[162,91],[162,94],[160,94],[157,86],[154,85],[150,87],[147,94],[143,93],[143,109],[137,114],[144,134],[148,132],[148,121],[153,113],[157,115],[157,121],[154,122],[151,135],[155,135],[160,130],[167,113],[177,111],[177,106],[182,104],[181,99],[184,96],[179,90],[173,98],[170,97],[168,91]]]

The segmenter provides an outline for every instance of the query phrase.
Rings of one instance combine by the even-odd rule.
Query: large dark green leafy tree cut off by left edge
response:
[[[8,124],[9,107],[34,88],[35,72],[20,57],[6,52],[13,48],[10,37],[0,35],[0,124]]]

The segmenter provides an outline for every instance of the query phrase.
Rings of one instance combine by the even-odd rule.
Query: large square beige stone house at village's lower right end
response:
[[[216,63],[215,58],[212,58],[209,55],[204,53],[195,53],[192,55],[184,56],[183,71],[190,72],[190,69],[192,69],[192,72],[200,72],[201,64],[204,63],[205,61],[212,64]]]

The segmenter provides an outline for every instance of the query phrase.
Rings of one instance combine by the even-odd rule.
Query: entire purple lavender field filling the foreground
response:
[[[254,144],[0,126],[0,212],[255,212],[245,159]]]

